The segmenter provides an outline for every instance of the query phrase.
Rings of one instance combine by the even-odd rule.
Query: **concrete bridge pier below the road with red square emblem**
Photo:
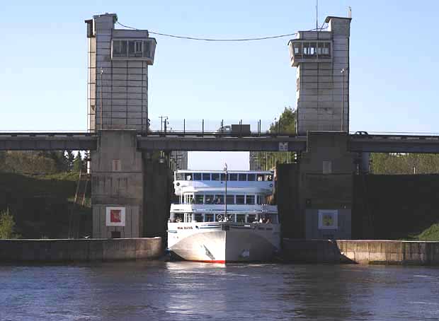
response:
[[[139,238],[143,231],[144,152],[136,131],[103,130],[91,152],[93,238]]]

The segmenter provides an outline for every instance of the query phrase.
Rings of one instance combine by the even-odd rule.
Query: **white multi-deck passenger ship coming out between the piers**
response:
[[[270,171],[177,170],[171,255],[217,263],[273,259],[280,250],[278,207],[267,204],[273,184]]]

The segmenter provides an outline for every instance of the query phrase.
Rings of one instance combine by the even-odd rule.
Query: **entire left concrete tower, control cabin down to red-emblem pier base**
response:
[[[114,13],[86,21],[93,238],[144,235],[145,155],[136,135],[148,129],[148,66],[156,40],[147,30],[118,30]]]

